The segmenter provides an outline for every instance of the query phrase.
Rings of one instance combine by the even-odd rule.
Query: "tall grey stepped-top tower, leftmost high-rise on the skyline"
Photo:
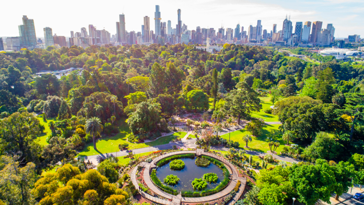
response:
[[[23,25],[18,26],[20,36],[20,46],[36,46],[34,20],[23,16]]]

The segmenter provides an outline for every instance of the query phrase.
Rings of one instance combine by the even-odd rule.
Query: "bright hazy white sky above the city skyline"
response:
[[[54,2],[54,3],[52,3]],[[16,4],[16,5],[15,5]],[[335,27],[335,37],[360,34],[364,37],[364,0],[17,0],[3,1],[0,12],[0,36],[18,36],[22,16],[34,19],[37,37],[44,37],[43,28],[50,27],[53,34],[70,36],[70,31],[81,32],[93,24],[98,30],[116,34],[119,14],[125,14],[126,30],[141,31],[143,17],[150,17],[154,30],[155,5],[160,5],[163,22],[177,24],[177,9],[182,10],[182,23],[189,30],[201,28],[235,28],[240,22],[244,30],[262,20],[263,29],[282,29],[282,22],[291,15],[296,21],[323,21]]]

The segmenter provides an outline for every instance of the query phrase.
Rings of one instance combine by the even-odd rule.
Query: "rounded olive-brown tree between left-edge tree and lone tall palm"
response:
[[[54,136],[50,138],[50,143],[43,149],[42,158],[50,165],[55,165],[58,162],[65,164],[76,156],[77,153],[74,149],[73,143],[69,143],[63,137]]]

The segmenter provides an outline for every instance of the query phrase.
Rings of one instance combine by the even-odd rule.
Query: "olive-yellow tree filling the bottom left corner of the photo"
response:
[[[11,205],[33,205],[35,200],[31,191],[37,178],[35,165],[21,158],[21,153],[0,156],[0,198]]]

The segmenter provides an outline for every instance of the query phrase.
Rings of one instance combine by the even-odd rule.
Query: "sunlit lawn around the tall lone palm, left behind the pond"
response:
[[[126,135],[130,133],[129,127],[125,122],[125,119],[119,120],[119,133],[116,136],[108,137],[99,139],[96,142],[97,151],[93,147],[92,141],[88,143],[82,152],[79,153],[80,156],[90,156],[95,154],[105,154],[105,153],[113,153],[119,151],[119,144],[128,143],[129,147],[128,149],[139,149],[144,147],[150,147],[150,146],[157,146],[162,144],[167,144],[169,141],[177,137],[184,137],[187,133],[185,132],[177,132],[173,135],[165,136],[165,137],[159,137],[157,140],[152,142],[146,142],[146,143],[131,143],[127,142]]]

